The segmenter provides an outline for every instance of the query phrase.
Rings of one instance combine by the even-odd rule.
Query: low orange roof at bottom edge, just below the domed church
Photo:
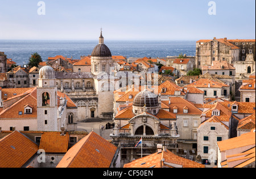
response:
[[[183,168],[205,168],[205,165],[179,157],[168,149],[160,153],[153,153],[152,155],[134,160],[129,164],[125,164],[123,168],[163,168],[166,166],[174,168],[175,164],[181,165]]]

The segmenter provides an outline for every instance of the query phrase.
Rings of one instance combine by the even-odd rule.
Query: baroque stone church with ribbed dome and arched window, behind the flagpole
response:
[[[156,144],[163,144],[176,152],[177,135],[175,116],[161,109],[160,99],[144,89],[138,93],[133,105],[119,111],[114,118],[113,144],[121,149],[121,166],[133,159],[150,155],[157,151]],[[141,148],[135,145],[142,138]]]

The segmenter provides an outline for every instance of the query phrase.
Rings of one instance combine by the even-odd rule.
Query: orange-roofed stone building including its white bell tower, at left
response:
[[[8,91],[12,91],[10,95]],[[0,113],[2,130],[76,130],[77,107],[67,95],[57,91],[55,71],[50,66],[39,70],[38,87],[21,90],[19,94],[18,91],[2,91],[2,96],[7,96]]]

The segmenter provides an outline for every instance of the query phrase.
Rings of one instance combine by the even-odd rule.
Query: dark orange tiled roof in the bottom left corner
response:
[[[18,131],[0,139],[0,168],[20,168],[38,152],[39,146]]]

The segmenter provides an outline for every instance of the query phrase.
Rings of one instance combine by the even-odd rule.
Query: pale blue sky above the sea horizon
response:
[[[0,0],[0,39],[255,39],[255,0]]]

